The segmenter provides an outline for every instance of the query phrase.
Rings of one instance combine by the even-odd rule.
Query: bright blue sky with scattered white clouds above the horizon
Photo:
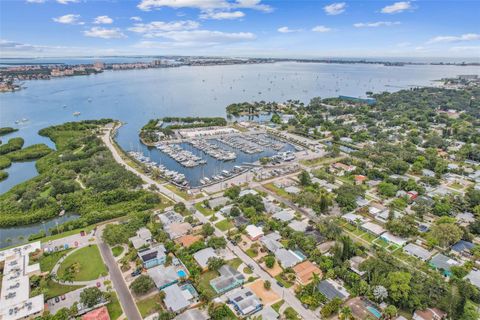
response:
[[[480,1],[0,0],[0,57],[480,57]]]

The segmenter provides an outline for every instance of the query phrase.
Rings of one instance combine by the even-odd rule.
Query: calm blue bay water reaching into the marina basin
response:
[[[316,96],[340,94],[364,97],[366,91],[397,91],[433,84],[432,80],[459,74],[480,74],[480,67],[404,66],[361,64],[275,63],[209,67],[180,67],[108,71],[85,77],[28,81],[28,88],[0,95],[0,126],[20,130],[2,137],[22,136],[25,145],[47,143],[41,128],[66,121],[114,118],[125,122],[117,136],[126,150],[143,150],[158,162],[188,171],[192,181],[211,176],[232,163],[214,161],[197,169],[184,169],[157,150],[149,151],[138,140],[139,129],[151,118],[163,116],[225,116],[225,107],[242,101],[298,99],[307,103]],[[79,117],[74,112],[81,112]],[[19,125],[16,120],[28,121]],[[200,152],[200,151],[198,151]],[[265,154],[270,155],[271,150]],[[239,162],[256,159],[238,152]],[[10,177],[0,182],[0,192],[36,174],[33,163],[14,164]],[[195,183],[192,183],[195,185]],[[4,231],[1,230],[3,234]]]

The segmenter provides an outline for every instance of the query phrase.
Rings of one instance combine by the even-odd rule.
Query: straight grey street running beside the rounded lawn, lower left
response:
[[[106,243],[102,240],[102,231],[103,226],[99,227],[97,230],[96,240],[98,248],[100,249],[100,254],[102,255],[103,261],[107,265],[108,272],[110,273],[110,279],[112,280],[113,287],[117,293],[120,304],[122,305],[123,312],[128,320],[142,320],[142,316],[137,309],[135,300],[130,293],[130,290],[123,279],[123,275],[118,268],[117,262],[113,258],[112,252]]]

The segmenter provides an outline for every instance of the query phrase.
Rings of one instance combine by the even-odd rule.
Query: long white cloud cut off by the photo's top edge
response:
[[[141,0],[137,6],[140,10],[150,11],[161,7],[195,8],[205,10],[231,10],[231,9],[254,9],[260,11],[271,11],[272,8],[262,4],[261,0],[236,0],[234,2],[227,0]]]

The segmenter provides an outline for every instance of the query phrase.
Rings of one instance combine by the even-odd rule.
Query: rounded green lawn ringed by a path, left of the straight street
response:
[[[78,264],[77,272],[73,275],[74,281],[95,280],[107,274],[107,268],[96,245],[78,249],[69,255],[58,268],[58,277],[62,278],[73,264]]]

